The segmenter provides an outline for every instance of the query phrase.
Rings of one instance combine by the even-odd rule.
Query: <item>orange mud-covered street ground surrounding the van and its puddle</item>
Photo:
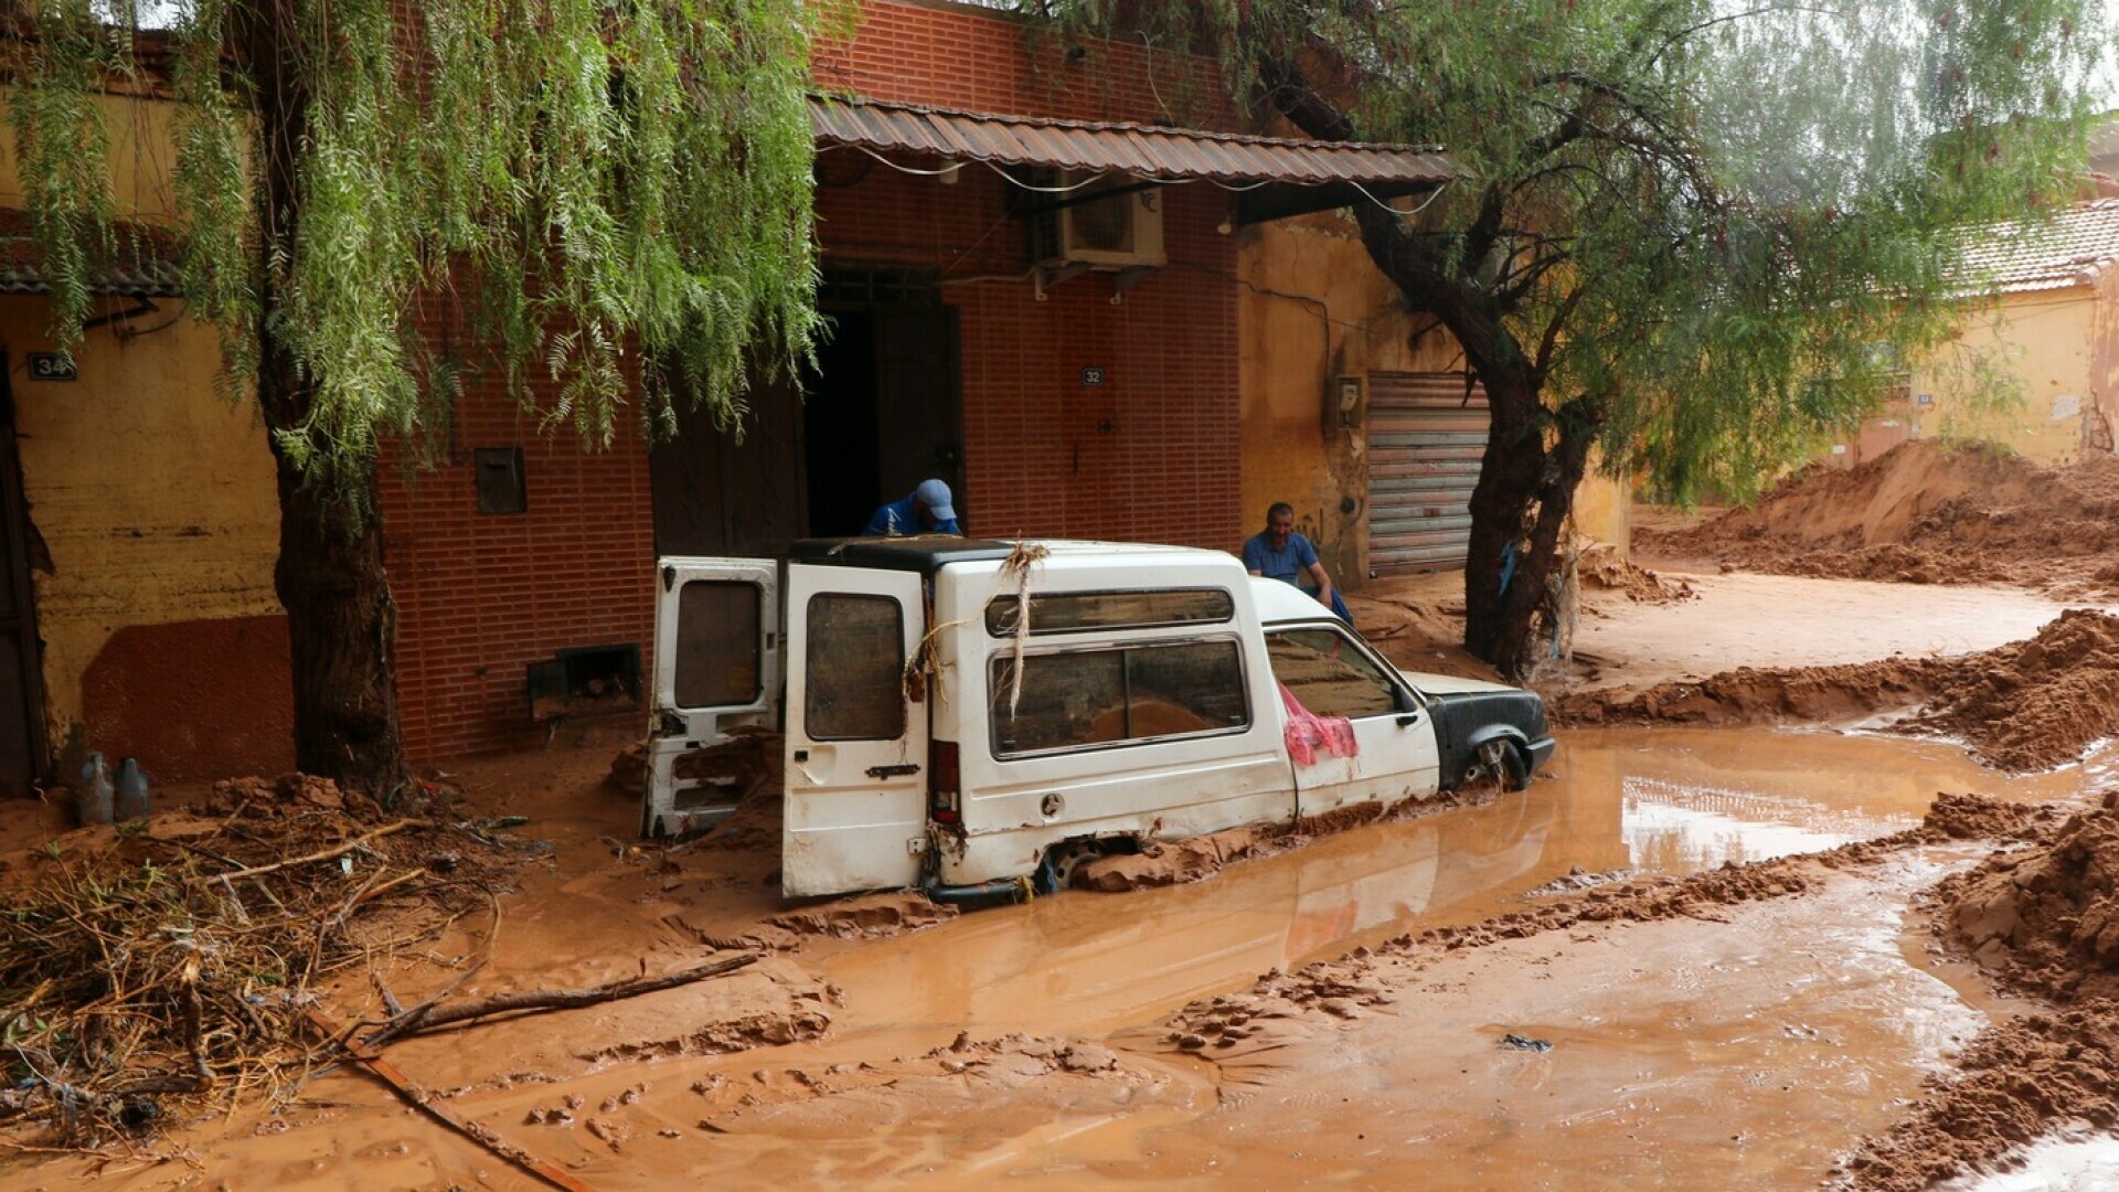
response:
[[[2055,475],[1918,443],[1799,475],[1757,511],[1659,518],[1638,543],[1646,566],[1583,558],[1577,660],[1541,681],[1562,751],[1602,725],[1646,725],[1644,749],[1659,732],[1782,725],[1962,742],[2000,774],[2077,766],[2119,736],[2115,503],[2108,460]],[[1452,645],[1458,585],[1375,583],[1352,607],[1401,666],[1481,674]],[[1248,954],[1257,912],[1237,895],[1288,855],[1432,823],[1452,831],[1390,889],[1439,884],[1456,857],[1513,863],[1502,844],[1532,829],[1530,804],[1509,802],[1521,795],[1473,791],[1382,825],[1225,834],[1091,865],[1060,895],[1106,929],[1138,916],[1106,986],[1087,988],[1060,965],[1070,916],[915,895],[784,904],[771,738],[727,759],[754,778],[735,819],[684,844],[634,840],[636,795],[604,781],[621,744],[576,734],[437,776],[449,795],[432,814],[487,825],[513,865],[481,910],[407,927],[411,944],[322,982],[331,1012],[375,1022],[430,997],[754,963],[403,1037],[388,1060],[411,1097],[341,1065],[91,1158],[0,1122],[0,1188],[553,1181],[483,1135],[583,1188],[1913,1190],[2119,1126],[2119,793],[2055,804],[2002,776],[2000,793],[1930,791],[1918,827],[1871,840],[1691,876],[1570,872],[1464,923],[1369,929],[1235,982],[1201,965],[1189,984],[1187,957]],[[206,789],[161,800],[155,834],[167,817],[199,840],[216,810]],[[25,844],[0,857],[11,882],[114,844],[66,834],[55,806],[0,814]],[[1515,819],[1492,829],[1494,853],[1464,844],[1500,814]],[[1182,904],[1204,918],[1155,901],[1182,889],[1206,895]],[[1354,933],[1352,910],[1305,897],[1290,954],[1307,954],[1297,935]],[[1159,946],[1178,923],[1210,937]],[[956,959],[992,954],[971,944],[996,933],[1021,948],[1017,971]],[[1197,993],[1148,1014],[1110,993],[1151,980]],[[981,1020],[1009,1029],[937,1010],[987,986],[1007,1005]],[[1702,1063],[1733,1084],[1702,1084]]]

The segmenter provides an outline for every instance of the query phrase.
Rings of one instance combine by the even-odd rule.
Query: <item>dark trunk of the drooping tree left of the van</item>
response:
[[[303,45],[292,0],[259,0],[235,11],[256,95],[263,159],[256,193],[254,288],[256,401],[265,414],[280,479],[280,562],[273,590],[286,609],[295,664],[295,766],[390,795],[405,781],[396,721],[396,607],[384,571],[375,458],[345,454],[311,473],[288,458],[282,433],[305,433],[316,386],[280,335],[280,274],[301,227],[301,161],[309,91],[295,47]],[[322,448],[333,452],[333,448]]]

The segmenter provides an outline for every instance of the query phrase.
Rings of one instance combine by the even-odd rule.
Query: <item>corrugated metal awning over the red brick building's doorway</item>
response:
[[[1284,140],[1229,132],[1197,132],[1136,123],[1053,121],[992,112],[956,112],[875,100],[809,100],[818,144],[922,153],[949,161],[1047,165],[1148,180],[1208,180],[1246,187],[1254,204],[1246,223],[1299,210],[1348,206],[1363,195],[1388,199],[1432,191],[1456,178],[1456,165],[1430,144],[1367,144]],[[1314,191],[1295,201],[1288,189]],[[1293,206],[1290,206],[1293,204]]]

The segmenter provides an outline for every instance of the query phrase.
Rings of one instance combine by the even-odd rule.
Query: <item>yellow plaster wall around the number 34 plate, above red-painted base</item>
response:
[[[104,299],[117,303],[119,299]],[[278,613],[280,498],[265,431],[212,390],[218,344],[176,299],[123,339],[91,329],[81,380],[25,375],[49,352],[40,297],[0,297],[30,522],[51,740],[83,719],[81,677],[121,628]]]

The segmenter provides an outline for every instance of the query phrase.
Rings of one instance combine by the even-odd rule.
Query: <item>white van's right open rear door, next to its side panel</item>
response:
[[[786,827],[780,891],[911,887],[926,851],[920,575],[788,564]]]

